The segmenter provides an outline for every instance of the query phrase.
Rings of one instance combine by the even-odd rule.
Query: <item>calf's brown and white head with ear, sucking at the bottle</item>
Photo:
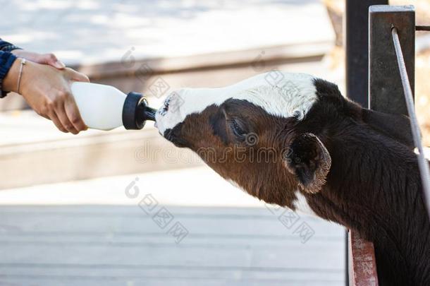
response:
[[[363,109],[332,83],[273,73],[226,88],[176,90],[156,124],[161,135],[193,150],[224,179],[295,210],[325,184],[331,122],[362,120]],[[385,130],[375,123],[381,122],[377,114],[368,118]]]

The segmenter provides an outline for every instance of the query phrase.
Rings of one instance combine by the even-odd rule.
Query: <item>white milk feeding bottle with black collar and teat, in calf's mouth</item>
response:
[[[155,121],[155,109],[140,93],[125,93],[110,85],[75,82],[73,97],[85,124],[91,129],[142,129],[147,120]]]

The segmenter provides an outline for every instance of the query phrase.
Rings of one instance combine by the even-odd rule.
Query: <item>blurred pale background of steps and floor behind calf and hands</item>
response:
[[[414,4],[429,24],[426,0]],[[274,69],[345,90],[343,0],[0,0],[0,37],[147,95]],[[416,105],[430,145],[430,35]],[[345,285],[343,227],[265,205],[152,123],[73,136],[0,100],[0,285]]]

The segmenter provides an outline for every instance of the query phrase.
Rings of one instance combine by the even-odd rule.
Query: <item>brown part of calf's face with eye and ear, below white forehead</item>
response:
[[[331,165],[317,136],[296,131],[299,123],[247,100],[228,99],[189,114],[164,136],[252,196],[295,209],[297,191],[317,193]]]

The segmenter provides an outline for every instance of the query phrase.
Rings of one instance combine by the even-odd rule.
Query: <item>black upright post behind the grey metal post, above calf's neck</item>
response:
[[[346,95],[363,107],[369,92],[369,6],[384,4],[388,0],[346,0]]]

